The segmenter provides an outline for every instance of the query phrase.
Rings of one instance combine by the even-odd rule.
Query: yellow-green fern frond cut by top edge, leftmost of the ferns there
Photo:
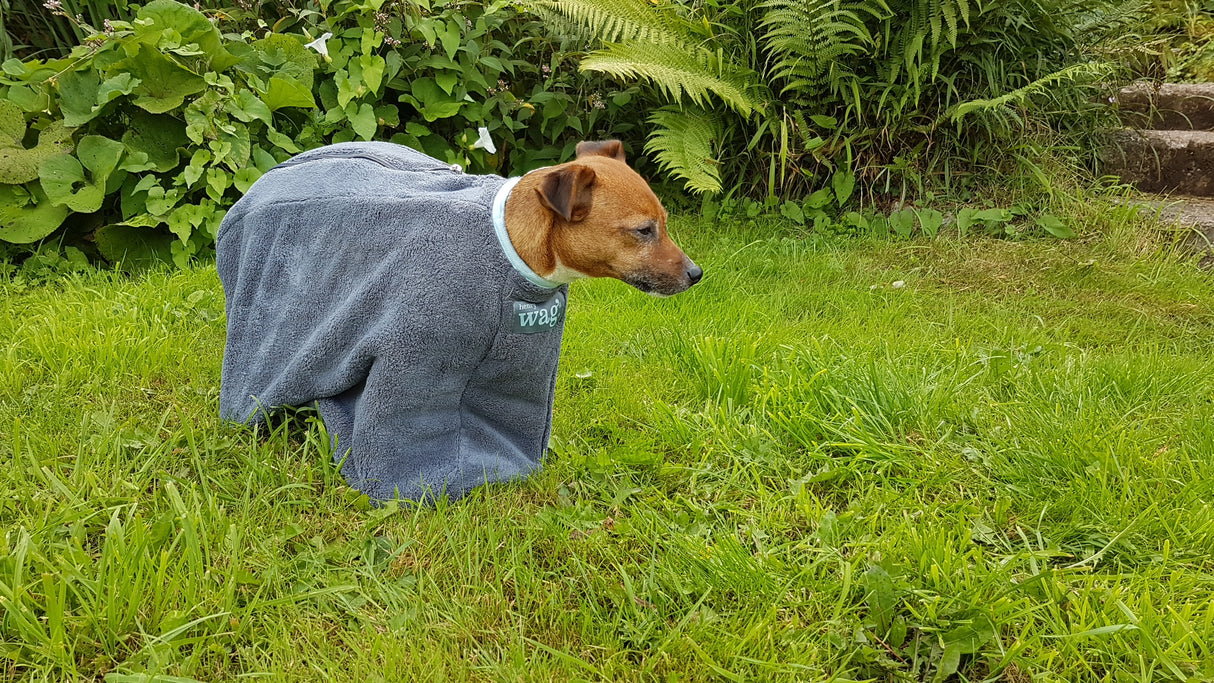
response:
[[[538,0],[535,5],[558,12],[603,42],[683,42],[677,15],[646,0]]]

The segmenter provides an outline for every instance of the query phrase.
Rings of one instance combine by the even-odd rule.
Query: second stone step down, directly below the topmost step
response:
[[[1141,192],[1214,197],[1214,131],[1112,131],[1101,158]]]

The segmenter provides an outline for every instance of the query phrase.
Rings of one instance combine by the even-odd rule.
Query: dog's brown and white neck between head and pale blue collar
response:
[[[563,285],[586,275],[561,263],[554,249],[556,218],[539,201],[539,187],[546,172],[545,169],[527,173],[510,190],[506,198],[506,234],[528,268],[550,283]]]

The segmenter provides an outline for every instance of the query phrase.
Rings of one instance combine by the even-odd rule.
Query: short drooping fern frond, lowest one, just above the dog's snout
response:
[[[649,133],[645,149],[658,164],[676,177],[683,178],[693,193],[721,192],[720,161],[716,144],[721,138],[721,123],[703,109],[658,109],[649,116],[657,127]]]

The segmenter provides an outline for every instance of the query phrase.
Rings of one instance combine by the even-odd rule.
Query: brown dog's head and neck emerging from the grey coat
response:
[[[552,283],[615,278],[654,296],[698,283],[704,272],[671,241],[665,209],[620,142],[582,142],[577,154],[510,193],[506,230],[527,266]]]

